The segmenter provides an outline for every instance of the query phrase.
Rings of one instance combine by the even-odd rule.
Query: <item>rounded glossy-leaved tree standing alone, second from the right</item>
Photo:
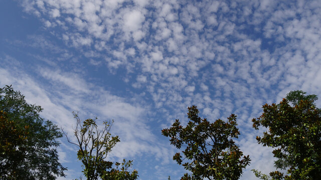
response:
[[[171,128],[162,130],[162,134],[170,137],[171,144],[181,149],[173,156],[178,164],[183,163],[185,169],[192,172],[192,176],[185,173],[182,179],[239,179],[243,169],[250,163],[249,155],[244,156],[233,138],[240,134],[236,123],[236,115],[232,114],[225,122],[217,119],[210,123],[206,118],[198,116],[196,106],[188,107],[188,122],[186,127],[179,119]]]

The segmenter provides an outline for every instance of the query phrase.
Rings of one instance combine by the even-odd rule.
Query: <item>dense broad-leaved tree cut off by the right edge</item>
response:
[[[321,111],[316,95],[304,95],[296,90],[279,104],[263,105],[263,113],[253,118],[253,127],[267,127],[258,143],[275,148],[275,167],[287,169],[289,175],[274,171],[274,179],[318,179],[321,173]],[[293,106],[289,104],[292,102]]]

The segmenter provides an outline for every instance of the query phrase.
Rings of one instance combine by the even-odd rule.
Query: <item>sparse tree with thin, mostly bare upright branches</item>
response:
[[[96,180],[99,177],[103,180],[137,179],[138,172],[136,170],[128,172],[128,168],[132,165],[131,160],[126,162],[124,159],[122,163],[116,162],[116,168],[112,168],[113,162],[105,160],[112,147],[120,141],[118,136],[111,136],[109,132],[113,121],[104,121],[103,128],[100,129],[96,124],[97,117],[82,121],[78,113],[73,112],[73,114],[76,119],[74,134],[77,142],[71,141],[64,130],[63,133],[70,143],[79,147],[77,155],[83,163],[83,172],[87,179]],[[122,165],[120,170],[118,169],[119,165]]]

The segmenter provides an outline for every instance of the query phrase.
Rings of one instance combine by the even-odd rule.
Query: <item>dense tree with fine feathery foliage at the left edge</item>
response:
[[[28,104],[11,85],[0,88],[0,178],[56,179],[65,176],[58,160],[57,138],[62,136],[51,121],[39,116],[42,108]]]

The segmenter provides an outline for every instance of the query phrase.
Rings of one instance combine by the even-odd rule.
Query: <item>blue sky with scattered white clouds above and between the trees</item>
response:
[[[290,90],[321,97],[319,0],[1,0],[0,85],[72,134],[81,119],[114,119],[108,159],[133,160],[139,179],[180,179],[179,150],[161,134],[187,107],[214,120],[237,115],[235,139],[253,168],[274,171],[251,119]],[[321,100],[316,101],[321,105]],[[73,137],[71,137],[73,138]],[[65,178],[79,178],[77,147],[60,139]]]

